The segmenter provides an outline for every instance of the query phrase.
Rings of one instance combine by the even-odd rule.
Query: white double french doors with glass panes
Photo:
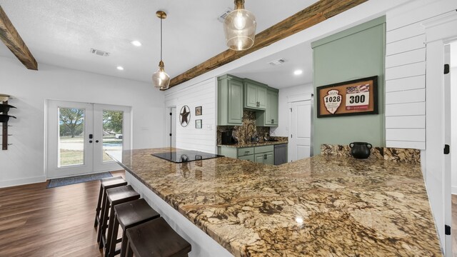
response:
[[[47,106],[47,178],[121,169],[106,151],[131,148],[130,107],[52,100]]]

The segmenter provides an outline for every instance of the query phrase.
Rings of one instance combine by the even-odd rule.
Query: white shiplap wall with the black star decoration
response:
[[[216,153],[216,78],[182,88],[165,91],[165,106],[176,106],[176,148]],[[186,127],[179,123],[183,106],[191,109],[191,121]],[[201,106],[201,116],[195,116],[195,107]],[[195,120],[202,120],[202,128],[195,128]]]

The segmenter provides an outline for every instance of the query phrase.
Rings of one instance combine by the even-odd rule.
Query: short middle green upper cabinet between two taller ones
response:
[[[266,84],[251,79],[243,79],[243,107],[246,109],[266,109]]]

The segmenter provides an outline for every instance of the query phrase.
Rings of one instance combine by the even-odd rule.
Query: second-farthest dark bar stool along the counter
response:
[[[114,223],[114,206],[119,203],[126,203],[128,201],[134,201],[139,199],[139,193],[136,193],[134,188],[131,186],[119,186],[116,188],[106,189],[106,208],[104,209],[103,218],[101,218],[101,225],[99,226],[99,248],[108,248],[109,240],[111,239],[111,233],[113,231]],[[109,214],[108,214],[109,213]],[[106,234],[106,228],[108,233]]]

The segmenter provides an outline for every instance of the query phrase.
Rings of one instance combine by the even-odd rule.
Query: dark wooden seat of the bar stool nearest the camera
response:
[[[129,228],[127,238],[128,257],[184,257],[192,249],[162,217]]]

